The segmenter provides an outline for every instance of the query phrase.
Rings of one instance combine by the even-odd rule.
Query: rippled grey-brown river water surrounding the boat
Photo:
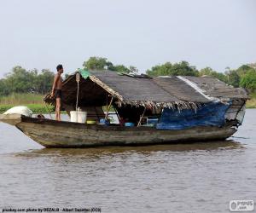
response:
[[[254,109],[229,141],[47,149],[8,124],[0,132],[0,210],[229,212],[230,200],[256,202]]]

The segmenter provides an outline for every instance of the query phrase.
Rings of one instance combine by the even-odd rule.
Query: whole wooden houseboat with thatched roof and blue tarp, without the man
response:
[[[79,87],[78,74],[82,77]],[[232,88],[216,78],[148,78],[84,70],[64,81],[62,95],[67,114],[75,109],[79,96],[79,107],[97,122],[105,117],[102,107],[112,105],[118,118],[125,117],[136,126],[58,122],[20,114],[0,115],[0,121],[14,125],[44,147],[214,141],[236,132],[248,98],[244,89]],[[49,94],[44,101],[55,105]],[[159,123],[143,126],[145,116],[158,116]]]

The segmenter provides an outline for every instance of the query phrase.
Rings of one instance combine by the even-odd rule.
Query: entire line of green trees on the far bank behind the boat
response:
[[[135,73],[136,66],[114,65],[107,58],[90,57],[83,63],[87,70],[109,70],[113,72]],[[157,76],[212,76],[224,83],[234,87],[243,87],[249,92],[256,92],[256,63],[242,65],[237,69],[226,68],[225,72],[217,72],[211,67],[198,70],[195,66],[189,65],[187,61],[177,63],[166,62],[156,65],[146,71],[150,77]],[[15,66],[5,78],[0,79],[0,95],[10,95],[12,93],[37,93],[46,94],[51,89],[55,72],[49,69],[38,71],[37,69],[26,70],[21,66]],[[66,75],[67,77],[67,75]]]

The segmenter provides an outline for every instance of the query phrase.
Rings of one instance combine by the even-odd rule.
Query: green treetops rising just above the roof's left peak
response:
[[[107,58],[96,56],[90,57],[89,60],[85,60],[83,66],[86,70],[109,70],[125,73],[137,72],[137,68],[135,66],[130,66],[128,68],[124,65],[113,65],[113,63],[108,61]]]

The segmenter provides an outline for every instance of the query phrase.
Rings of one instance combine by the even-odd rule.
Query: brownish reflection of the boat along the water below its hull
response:
[[[120,147],[87,147],[87,148],[42,148],[15,153],[20,157],[42,157],[42,156],[88,156],[97,157],[103,155],[140,153],[152,154],[156,152],[195,152],[195,151],[219,151],[227,149],[244,148],[238,141],[208,141],[184,144],[163,144],[148,146],[120,146]]]

